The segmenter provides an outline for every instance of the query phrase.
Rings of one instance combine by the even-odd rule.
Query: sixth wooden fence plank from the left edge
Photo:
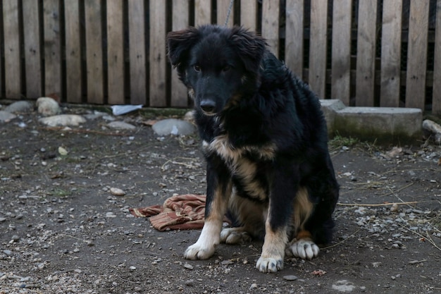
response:
[[[124,104],[123,0],[107,0],[108,104]]]

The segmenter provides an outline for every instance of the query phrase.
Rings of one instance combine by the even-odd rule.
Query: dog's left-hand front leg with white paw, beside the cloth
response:
[[[219,169],[219,166],[217,166]],[[207,259],[213,255],[216,245],[220,242],[223,216],[227,210],[232,183],[228,171],[215,171],[207,164],[207,195],[205,222],[201,235],[196,243],[185,250],[187,259]]]

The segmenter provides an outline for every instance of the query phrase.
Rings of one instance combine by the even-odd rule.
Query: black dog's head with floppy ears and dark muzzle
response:
[[[213,116],[255,91],[266,42],[242,27],[204,25],[170,32],[168,57],[197,111]],[[250,93],[248,93],[250,94]]]

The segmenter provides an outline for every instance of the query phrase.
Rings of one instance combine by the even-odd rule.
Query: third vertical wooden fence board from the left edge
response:
[[[44,10],[44,93],[61,98],[61,36],[58,0],[43,2]]]

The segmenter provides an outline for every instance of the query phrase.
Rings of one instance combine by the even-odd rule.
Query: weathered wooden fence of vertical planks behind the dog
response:
[[[3,0],[0,97],[187,107],[166,33],[223,25],[230,0]],[[441,113],[441,0],[235,0],[320,97]],[[1,102],[1,99],[0,99]]]

